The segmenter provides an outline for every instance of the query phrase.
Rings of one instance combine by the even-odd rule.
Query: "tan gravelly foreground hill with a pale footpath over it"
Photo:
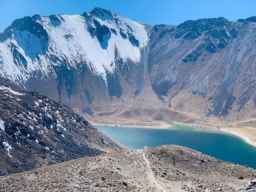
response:
[[[113,152],[0,177],[2,192],[233,192],[256,170],[181,146]]]

